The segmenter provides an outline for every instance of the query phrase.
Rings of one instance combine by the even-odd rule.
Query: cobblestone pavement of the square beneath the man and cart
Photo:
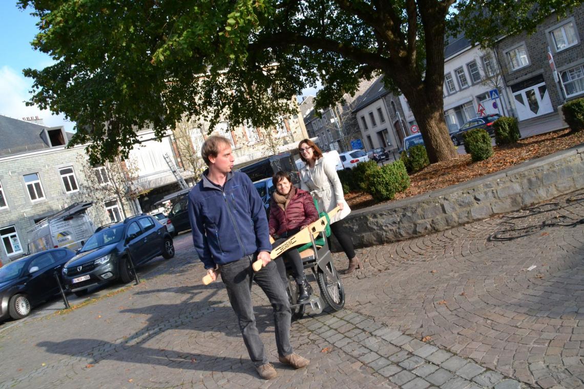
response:
[[[584,218],[584,192],[555,202],[359,250],[345,309],[293,324],[310,366],[274,363],[271,381],[256,376],[223,284],[201,285],[182,235],[140,285],[0,327],[0,387],[581,387],[584,225],[566,225]],[[271,309],[253,292],[275,362]]]

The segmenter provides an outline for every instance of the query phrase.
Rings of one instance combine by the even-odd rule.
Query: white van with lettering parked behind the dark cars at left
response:
[[[85,213],[92,205],[92,202],[75,203],[36,223],[28,231],[29,254],[57,247],[67,247],[73,251],[81,248],[95,231]]]

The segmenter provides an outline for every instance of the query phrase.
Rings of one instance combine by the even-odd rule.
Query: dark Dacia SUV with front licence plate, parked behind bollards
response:
[[[130,282],[133,274],[128,253],[137,267],[158,255],[172,258],[175,247],[166,226],[149,215],[132,216],[89,237],[79,253],[63,267],[65,286],[81,296],[91,286],[116,279]]]

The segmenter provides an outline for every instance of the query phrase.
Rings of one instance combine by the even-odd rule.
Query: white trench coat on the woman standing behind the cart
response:
[[[307,164],[300,170],[300,188],[317,199],[319,212],[331,212],[337,203],[343,203],[343,210],[331,218],[331,223],[338,222],[351,212],[336,174],[336,162],[327,156],[317,159],[314,167],[310,168]]]

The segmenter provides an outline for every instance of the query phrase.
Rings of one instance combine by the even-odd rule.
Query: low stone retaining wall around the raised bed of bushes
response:
[[[441,190],[353,211],[343,228],[355,247],[368,247],[517,211],[583,187],[580,145]],[[335,241],[333,248],[338,247]]]

